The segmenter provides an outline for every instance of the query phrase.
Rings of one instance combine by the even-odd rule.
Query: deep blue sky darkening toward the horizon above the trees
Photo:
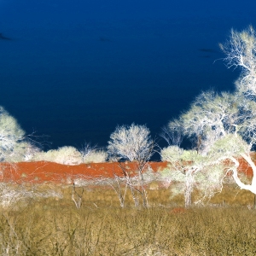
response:
[[[256,26],[256,2],[172,2],[0,1],[0,105],[52,148],[106,146],[116,125],[155,137],[201,90],[234,90],[218,43]]]

